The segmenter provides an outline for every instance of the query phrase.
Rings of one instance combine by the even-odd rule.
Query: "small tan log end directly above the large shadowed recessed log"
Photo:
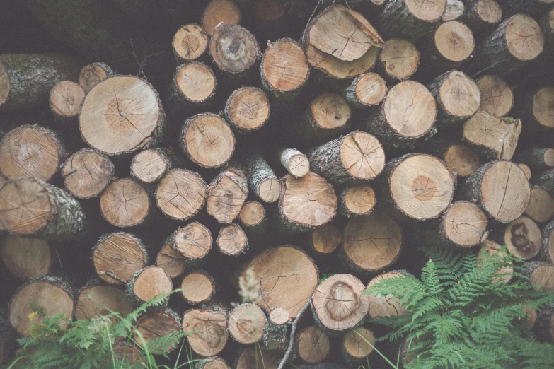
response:
[[[338,212],[347,218],[369,215],[375,204],[375,192],[370,185],[350,185],[340,192]]]

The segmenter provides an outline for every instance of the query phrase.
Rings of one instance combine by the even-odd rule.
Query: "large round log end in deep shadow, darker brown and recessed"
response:
[[[351,218],[342,236],[340,259],[359,274],[392,265],[402,249],[402,230],[386,213]]]

